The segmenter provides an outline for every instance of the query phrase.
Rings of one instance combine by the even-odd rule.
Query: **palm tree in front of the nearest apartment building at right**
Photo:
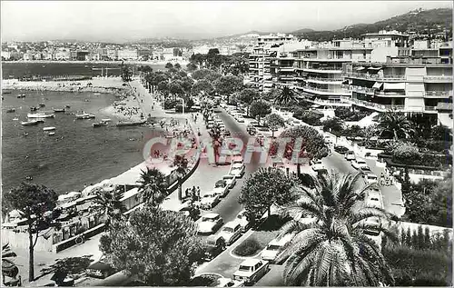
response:
[[[403,136],[407,138],[410,133],[414,132],[410,120],[405,114],[390,110],[380,115],[380,123],[378,125],[381,134],[392,134],[394,140],[398,140]]]

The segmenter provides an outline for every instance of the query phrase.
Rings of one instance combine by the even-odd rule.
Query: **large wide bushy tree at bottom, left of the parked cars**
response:
[[[145,206],[115,223],[114,231],[102,237],[101,251],[147,286],[187,285],[202,258],[197,224],[184,214]]]

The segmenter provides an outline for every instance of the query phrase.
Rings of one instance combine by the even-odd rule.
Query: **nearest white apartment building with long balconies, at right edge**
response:
[[[410,55],[388,56],[385,62],[344,64],[343,75],[343,86],[351,93],[343,102],[378,112],[423,113],[428,121],[452,127],[448,109],[452,107],[452,47],[448,45],[443,49],[418,46]]]

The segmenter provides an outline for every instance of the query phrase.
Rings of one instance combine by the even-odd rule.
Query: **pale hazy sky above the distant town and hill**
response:
[[[374,23],[451,1],[2,1],[2,41],[197,39]]]

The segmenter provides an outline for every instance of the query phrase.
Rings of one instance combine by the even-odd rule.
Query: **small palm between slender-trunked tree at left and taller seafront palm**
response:
[[[113,191],[99,189],[95,192],[94,204],[98,204],[104,209],[104,223],[107,227],[110,226],[113,220],[120,220],[123,213],[126,212],[126,207],[122,203],[124,192],[115,187]]]

